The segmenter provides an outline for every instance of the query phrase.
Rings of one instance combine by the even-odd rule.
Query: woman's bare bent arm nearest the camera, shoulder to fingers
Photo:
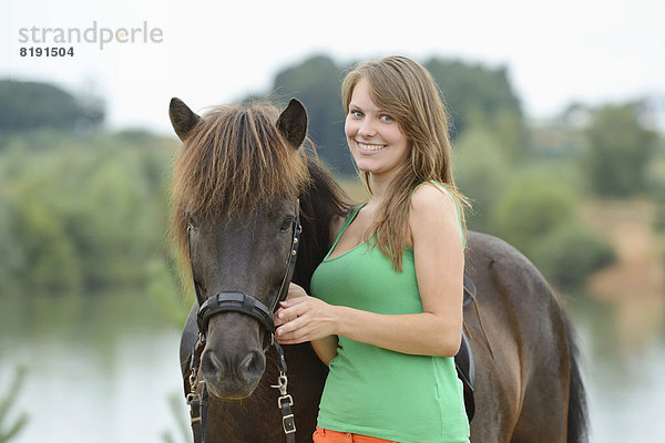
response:
[[[464,255],[453,198],[434,185],[418,188],[409,228],[422,313],[387,316],[299,297],[283,306],[291,321],[277,330],[279,342],[338,334],[403,353],[454,356],[462,333]]]

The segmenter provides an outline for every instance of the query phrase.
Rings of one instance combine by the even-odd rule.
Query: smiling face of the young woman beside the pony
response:
[[[371,100],[367,79],[354,87],[344,131],[356,165],[375,178],[391,178],[411,152],[399,123]]]

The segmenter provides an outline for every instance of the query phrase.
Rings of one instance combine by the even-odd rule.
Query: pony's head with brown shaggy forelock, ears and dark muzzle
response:
[[[296,200],[309,181],[299,150],[304,106],[291,100],[280,114],[266,104],[218,106],[198,116],[173,99],[170,116],[183,141],[172,189],[183,270],[192,269],[204,300],[241,292],[270,307],[286,272]],[[266,365],[265,332],[238,312],[209,319],[201,373],[211,394],[252,394]]]

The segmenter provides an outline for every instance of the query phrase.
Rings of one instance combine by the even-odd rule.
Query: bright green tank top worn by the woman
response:
[[[347,217],[330,251],[360,207]],[[410,248],[405,248],[400,274],[366,243],[328,256],[311,277],[314,297],[377,313],[422,312]],[[320,427],[403,443],[468,441],[463,388],[452,358],[410,356],[339,337],[329,368]]]

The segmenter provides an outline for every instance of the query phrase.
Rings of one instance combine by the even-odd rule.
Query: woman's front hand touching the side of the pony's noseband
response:
[[[275,313],[277,341],[296,344],[336,334],[336,307],[309,297],[296,284],[290,284],[286,300]]]

